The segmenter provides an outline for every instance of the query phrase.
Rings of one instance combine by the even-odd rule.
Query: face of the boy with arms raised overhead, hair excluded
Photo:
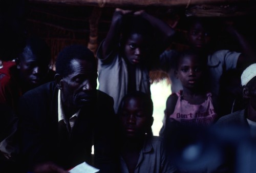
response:
[[[124,45],[124,54],[131,64],[138,64],[144,60],[149,49],[146,39],[140,34],[132,34]]]

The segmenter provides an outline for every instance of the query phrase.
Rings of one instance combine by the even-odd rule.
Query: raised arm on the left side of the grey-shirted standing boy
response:
[[[113,14],[110,30],[102,43],[102,59],[106,59],[113,49],[118,47],[120,41],[122,18],[125,14],[131,13],[131,10],[122,10],[117,8]]]

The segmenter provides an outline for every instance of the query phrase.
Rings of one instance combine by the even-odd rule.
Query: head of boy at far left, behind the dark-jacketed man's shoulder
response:
[[[20,80],[28,88],[37,87],[47,76],[50,61],[50,48],[46,42],[37,37],[28,38],[23,52],[16,59]]]

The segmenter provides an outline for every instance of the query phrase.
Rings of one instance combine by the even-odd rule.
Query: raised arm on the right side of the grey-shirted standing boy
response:
[[[164,21],[158,19],[155,16],[152,16],[144,11],[137,11],[134,13],[135,15],[141,15],[143,18],[148,20],[151,25],[155,29],[155,37],[156,37],[156,46],[154,51],[157,53],[162,53],[170,44],[172,41],[172,37],[175,34],[175,30],[170,27],[167,23]]]

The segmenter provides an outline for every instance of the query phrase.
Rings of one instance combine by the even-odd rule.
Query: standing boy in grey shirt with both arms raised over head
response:
[[[114,98],[115,112],[125,94],[150,94],[148,71],[156,63],[153,58],[159,57],[173,35],[171,27],[144,11],[115,10],[97,52],[99,90]]]

